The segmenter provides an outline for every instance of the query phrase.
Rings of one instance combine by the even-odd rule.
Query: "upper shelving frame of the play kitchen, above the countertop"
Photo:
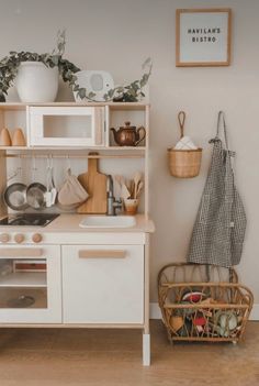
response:
[[[34,110],[31,109],[32,107],[35,108],[43,108],[42,113],[44,114],[49,107],[49,111],[53,112],[55,108],[57,108],[54,112],[54,115],[58,115],[61,112],[61,115],[66,114],[69,115],[69,108],[72,111],[71,115],[74,117],[79,113],[79,115],[83,112],[83,108],[103,108],[102,110],[102,119],[105,123],[101,125],[101,134],[93,133],[91,134],[92,141],[85,141],[82,142],[81,139],[75,141],[78,146],[71,146],[71,141],[56,141],[58,136],[61,135],[69,136],[75,135],[81,136],[81,132],[76,135],[76,132],[71,129],[71,122],[68,124],[67,132],[64,134],[64,130],[57,131],[55,135],[53,132],[55,131],[56,126],[59,129],[58,123],[59,121],[54,121],[53,128],[50,126],[49,132],[46,132],[46,137],[48,141],[33,141],[30,135],[33,133],[35,134],[36,130],[32,133],[32,126],[37,126],[36,123],[30,120],[30,117],[33,115]],[[21,126],[24,132],[24,136],[27,144],[35,144],[40,143],[43,146],[0,146],[0,168],[3,170],[1,178],[0,178],[0,192],[4,191],[7,187],[7,170],[9,170],[10,166],[12,166],[12,161],[15,161],[16,164],[19,163],[19,158],[42,158],[44,162],[49,156],[53,158],[60,158],[65,161],[65,158],[75,158],[83,164],[87,162],[88,158],[100,158],[106,169],[111,173],[113,172],[113,161],[115,167],[114,173],[121,173],[122,175],[127,173],[127,169],[124,170],[124,163],[121,162],[125,159],[125,166],[128,166],[128,170],[134,174],[134,169],[140,169],[144,176],[144,197],[142,199],[142,210],[145,212],[145,216],[148,216],[148,206],[149,206],[149,192],[148,192],[148,158],[149,158],[149,108],[150,104],[148,102],[75,102],[75,101],[67,101],[67,102],[53,102],[53,103],[23,103],[23,102],[0,102],[0,129],[8,128],[10,130],[10,134],[12,136],[13,131],[15,128]],[[81,110],[80,110],[81,109]],[[32,111],[31,111],[32,110]],[[79,111],[80,110],[80,111]],[[87,109],[88,110],[88,109]],[[90,109],[89,109],[90,110]],[[98,109],[97,109],[98,110]],[[78,112],[79,111],[79,112]],[[50,113],[52,115],[52,113]],[[80,115],[81,117],[81,115]],[[71,120],[72,121],[72,120]],[[146,137],[139,143],[139,146],[119,146],[116,145],[112,133],[110,132],[110,128],[120,128],[124,122],[131,121],[136,128],[144,126],[146,129]],[[46,122],[45,122],[46,123]],[[77,129],[80,129],[81,121],[76,121]],[[61,126],[63,128],[63,126]],[[40,129],[42,126],[40,124]],[[78,129],[78,130],[79,130]],[[53,132],[52,132],[53,130]],[[97,136],[97,134],[100,136]],[[42,135],[42,134],[41,134]],[[41,136],[40,135],[40,136]],[[52,141],[50,137],[54,136],[55,141]],[[75,140],[74,139],[74,140]],[[92,144],[99,144],[93,146]],[[56,144],[57,146],[53,145]],[[88,145],[89,144],[89,145]],[[103,145],[105,144],[105,145]],[[108,146],[108,144],[110,144]],[[90,152],[97,152],[98,155],[90,155]],[[45,159],[44,159],[45,158]],[[117,159],[117,162],[116,162]],[[60,164],[60,163],[59,163]],[[121,165],[122,164],[122,165]],[[41,163],[42,167],[43,163]],[[103,165],[101,165],[102,167]],[[5,205],[3,200],[0,200],[0,211],[5,212]],[[0,277],[1,278],[1,277]]]

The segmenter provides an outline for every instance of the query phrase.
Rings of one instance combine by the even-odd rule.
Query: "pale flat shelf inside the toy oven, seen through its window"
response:
[[[0,278],[0,287],[46,287],[45,272],[16,272]]]

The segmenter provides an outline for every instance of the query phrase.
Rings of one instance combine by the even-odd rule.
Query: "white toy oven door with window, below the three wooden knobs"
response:
[[[60,247],[0,246],[0,323],[60,323]]]

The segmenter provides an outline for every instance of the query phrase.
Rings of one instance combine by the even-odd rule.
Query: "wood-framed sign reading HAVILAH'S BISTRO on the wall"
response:
[[[229,66],[232,11],[177,10],[176,65]]]

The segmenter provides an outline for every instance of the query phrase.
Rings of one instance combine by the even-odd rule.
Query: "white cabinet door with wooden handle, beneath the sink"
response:
[[[63,246],[65,323],[143,323],[144,245]]]

